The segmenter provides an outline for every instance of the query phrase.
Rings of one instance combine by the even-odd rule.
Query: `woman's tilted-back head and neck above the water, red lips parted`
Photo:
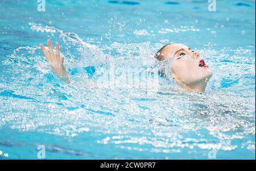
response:
[[[174,79],[182,88],[191,92],[205,91],[212,71],[199,52],[183,44],[168,44],[158,50],[155,58],[158,61],[172,61],[172,65],[164,65],[163,75]]]

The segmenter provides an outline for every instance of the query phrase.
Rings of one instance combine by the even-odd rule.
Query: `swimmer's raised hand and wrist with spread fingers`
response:
[[[67,68],[64,65],[64,57],[60,56],[59,43],[56,42],[56,54],[54,54],[53,52],[52,44],[50,40],[47,40],[47,45],[49,48],[49,53],[47,52],[46,48],[44,48],[42,44],[40,44],[40,48],[43,50],[43,53],[46,56],[53,72],[55,73],[56,76],[64,80],[64,82],[71,83]]]

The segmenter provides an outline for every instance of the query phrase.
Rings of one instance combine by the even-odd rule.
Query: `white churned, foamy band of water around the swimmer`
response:
[[[97,48],[75,33],[30,26],[59,35],[61,52],[77,82],[65,84],[56,78],[38,46],[15,49],[1,62],[0,127],[69,138],[93,132],[101,136],[92,143],[154,153],[180,153],[184,148],[255,152],[253,47],[199,49],[214,72],[205,93],[185,92],[166,80],[160,80],[157,92],[138,85],[98,88],[102,68],[108,71],[114,63],[147,69],[155,63],[153,50],[162,44],[113,42]]]

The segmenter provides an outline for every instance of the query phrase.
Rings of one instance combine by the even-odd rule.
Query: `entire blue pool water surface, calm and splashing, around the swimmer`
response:
[[[0,159],[255,159],[255,1],[0,2]],[[39,43],[59,41],[76,83]],[[110,63],[147,69],[170,42],[200,51],[205,93],[159,80],[95,86]],[[97,47],[98,48],[97,48]]]

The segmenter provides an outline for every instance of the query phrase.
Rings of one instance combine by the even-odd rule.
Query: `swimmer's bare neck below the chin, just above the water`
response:
[[[180,87],[189,91],[189,92],[205,92],[205,88],[207,87],[207,83],[209,81],[210,78],[205,78],[202,80],[199,80],[197,82],[193,82],[193,83],[184,83],[184,82],[180,82]]]

